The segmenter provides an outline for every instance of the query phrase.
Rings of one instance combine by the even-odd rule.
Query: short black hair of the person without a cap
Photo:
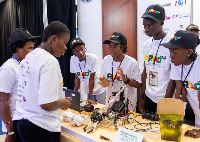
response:
[[[53,21],[48,24],[48,26],[43,31],[42,42],[47,42],[47,40],[52,36],[56,35],[58,37],[62,36],[64,33],[70,34],[69,28],[60,21]]]

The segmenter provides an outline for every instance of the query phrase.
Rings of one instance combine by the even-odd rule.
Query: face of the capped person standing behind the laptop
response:
[[[72,49],[72,52],[75,56],[78,57],[79,61],[83,61],[86,58],[86,49],[84,44],[75,45]]]

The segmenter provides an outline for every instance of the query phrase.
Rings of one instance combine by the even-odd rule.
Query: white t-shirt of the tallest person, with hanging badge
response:
[[[170,41],[171,37],[167,34],[162,42],[150,38],[144,43],[144,57],[146,66],[146,90],[145,94],[153,102],[158,103],[164,98],[170,77],[170,53],[169,49],[160,45]],[[158,49],[159,46],[159,49]],[[155,58],[157,54],[157,59]],[[153,61],[155,60],[155,62]]]

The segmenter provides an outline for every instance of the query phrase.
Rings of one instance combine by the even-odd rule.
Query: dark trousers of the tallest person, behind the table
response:
[[[154,113],[157,111],[157,103],[154,103],[149,97],[145,95],[145,112]]]

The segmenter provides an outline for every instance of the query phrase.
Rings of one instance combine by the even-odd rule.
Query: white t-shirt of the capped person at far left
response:
[[[8,59],[0,67],[0,92],[9,93],[8,100],[10,106],[11,117],[15,111],[15,98],[17,94],[19,62],[13,58]],[[7,132],[6,127],[2,121],[2,131]]]

